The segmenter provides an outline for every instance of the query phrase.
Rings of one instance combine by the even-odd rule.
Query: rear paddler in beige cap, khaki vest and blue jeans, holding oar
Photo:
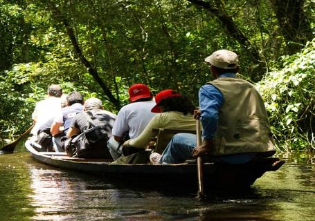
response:
[[[203,141],[196,135],[179,133],[172,137],[162,155],[152,153],[154,164],[177,164],[208,155],[216,162],[242,164],[255,157],[275,153],[264,102],[252,84],[236,77],[238,56],[217,50],[206,57],[215,80],[199,90],[196,117],[203,126]]]

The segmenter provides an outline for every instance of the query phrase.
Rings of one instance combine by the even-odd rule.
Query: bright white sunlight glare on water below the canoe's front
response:
[[[110,185],[98,191],[89,189],[93,183],[71,173],[32,165],[29,170],[32,206],[36,208],[33,220],[88,220],[91,215],[94,220],[98,216],[109,218],[103,209],[116,195]]]

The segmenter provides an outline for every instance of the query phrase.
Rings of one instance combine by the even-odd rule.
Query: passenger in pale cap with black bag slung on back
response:
[[[103,109],[100,99],[91,97],[84,102],[84,111],[73,117],[66,136],[73,137],[73,135],[79,135],[93,126],[100,126],[100,128],[106,131],[108,137],[111,137],[111,129],[114,126],[115,119],[116,115],[114,113]],[[93,149],[89,155],[84,157],[110,159],[111,155],[107,148],[107,142],[104,143],[102,148]]]

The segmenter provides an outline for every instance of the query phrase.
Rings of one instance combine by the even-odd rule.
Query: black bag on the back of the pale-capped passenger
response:
[[[89,129],[67,140],[66,153],[71,157],[111,159],[107,148],[107,132],[101,126],[95,126],[87,113],[84,112],[84,115],[89,122]]]

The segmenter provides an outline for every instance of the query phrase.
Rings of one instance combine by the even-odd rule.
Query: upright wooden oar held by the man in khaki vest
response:
[[[197,146],[201,145],[201,128],[200,119],[196,119],[196,134],[197,134]],[[202,158],[197,157],[197,171],[198,171],[198,198],[204,198],[204,173],[202,172]]]

